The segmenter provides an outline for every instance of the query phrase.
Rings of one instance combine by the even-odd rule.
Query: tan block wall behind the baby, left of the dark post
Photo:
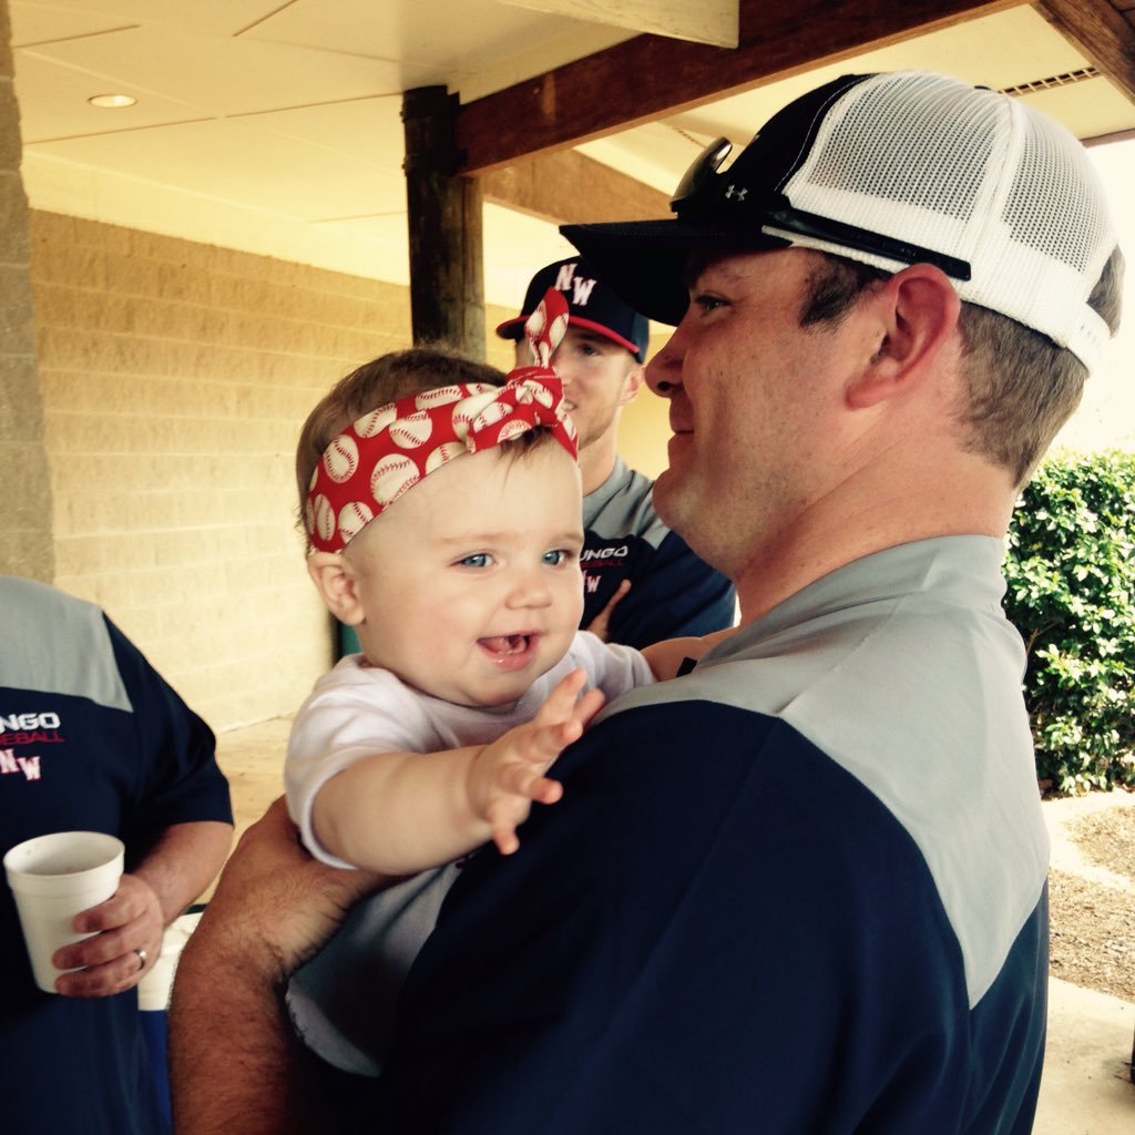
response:
[[[293,711],[334,641],[296,435],[342,375],[407,345],[406,291],[53,213],[31,232],[53,582],[215,729]]]

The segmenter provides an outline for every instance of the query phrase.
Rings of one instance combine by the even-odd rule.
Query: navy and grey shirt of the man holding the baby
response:
[[[1001,554],[868,556],[614,701],[451,890],[368,1129],[1027,1135],[1048,836]]]

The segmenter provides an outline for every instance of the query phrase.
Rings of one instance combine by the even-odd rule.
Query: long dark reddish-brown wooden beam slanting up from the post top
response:
[[[741,0],[735,50],[639,35],[461,107],[461,171],[485,174],[1018,6],[1019,0]]]

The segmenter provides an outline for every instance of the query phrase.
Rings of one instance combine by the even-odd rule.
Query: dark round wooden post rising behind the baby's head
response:
[[[485,358],[481,186],[457,176],[457,100],[444,86],[406,91],[410,320],[415,344],[444,343]]]

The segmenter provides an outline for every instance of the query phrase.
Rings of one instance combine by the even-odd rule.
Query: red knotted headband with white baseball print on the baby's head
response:
[[[536,364],[510,371],[504,386],[443,386],[365,413],[323,451],[308,489],[304,526],[312,547],[342,552],[384,508],[463,453],[479,453],[545,428],[575,456],[575,427],[563,384],[549,365],[568,329],[555,288],[524,325]]]

